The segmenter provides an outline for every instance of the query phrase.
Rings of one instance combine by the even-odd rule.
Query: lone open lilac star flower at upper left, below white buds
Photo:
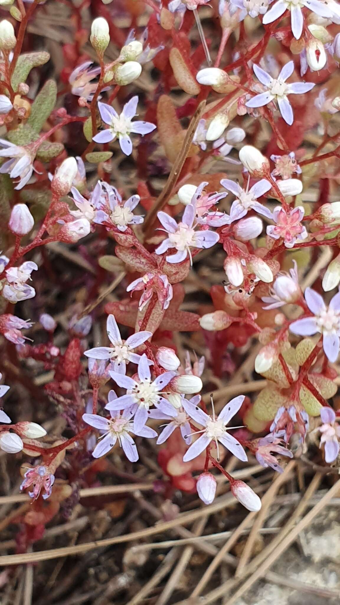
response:
[[[119,116],[111,105],[99,102],[98,108],[100,116],[102,117],[103,122],[108,124],[110,128],[106,128],[96,134],[96,136],[93,137],[93,140],[96,143],[110,143],[116,139],[116,137],[119,137],[120,149],[122,149],[122,152],[125,155],[131,155],[132,141],[129,134],[135,132],[136,134],[142,134],[143,136],[156,128],[156,126],[150,122],[142,122],[140,120],[132,122],[132,118],[136,116],[137,104],[138,96],[132,97],[128,103],[125,103],[123,111]]]

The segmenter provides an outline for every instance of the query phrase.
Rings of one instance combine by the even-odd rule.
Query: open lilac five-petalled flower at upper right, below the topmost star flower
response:
[[[321,2],[318,2],[318,0],[312,1],[315,2],[315,4],[318,3],[321,5]],[[286,2],[286,0],[279,0],[276,5],[280,4],[280,2],[282,5]],[[269,11],[269,13],[264,16],[263,23],[269,23],[269,21],[264,21],[264,19],[269,16],[273,8]],[[289,61],[289,63],[286,63],[286,65],[283,66],[277,79],[272,78],[272,76],[270,76],[266,71],[264,71],[260,67],[260,65],[254,64],[253,70],[255,72],[255,75],[258,77],[264,87],[267,88],[267,90],[266,92],[256,94],[255,97],[249,99],[249,101],[246,102],[246,107],[263,107],[271,101],[276,100],[284,121],[287,122],[287,124],[292,125],[294,120],[293,110],[292,105],[290,105],[290,102],[287,99],[287,94],[307,93],[309,90],[312,90],[312,88],[315,87],[315,84],[312,82],[293,82],[292,84],[286,84],[287,78],[289,78],[294,71],[293,61]]]

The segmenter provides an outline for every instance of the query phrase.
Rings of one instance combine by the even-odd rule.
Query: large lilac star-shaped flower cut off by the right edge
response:
[[[335,362],[340,348],[340,293],[333,296],[328,307],[312,288],[306,288],[304,297],[313,316],[293,321],[289,329],[299,336],[321,333],[325,355]]]

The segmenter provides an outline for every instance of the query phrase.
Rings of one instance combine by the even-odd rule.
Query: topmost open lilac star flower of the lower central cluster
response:
[[[113,346],[90,348],[85,351],[84,355],[93,359],[111,359],[114,371],[125,374],[126,364],[130,361],[138,364],[140,361],[140,355],[134,353],[134,349],[148,340],[152,336],[152,332],[137,332],[123,341],[114,315],[108,316],[106,329]],[[152,362],[148,360],[148,363],[151,364]]]

